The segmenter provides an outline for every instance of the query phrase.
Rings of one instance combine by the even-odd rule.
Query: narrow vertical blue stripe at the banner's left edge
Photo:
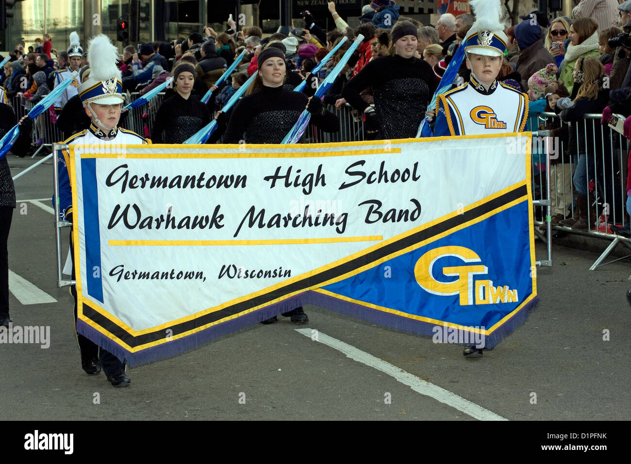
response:
[[[88,295],[103,302],[101,278],[101,234],[98,227],[97,160],[81,159],[83,175],[83,227],[85,228],[86,280]]]

